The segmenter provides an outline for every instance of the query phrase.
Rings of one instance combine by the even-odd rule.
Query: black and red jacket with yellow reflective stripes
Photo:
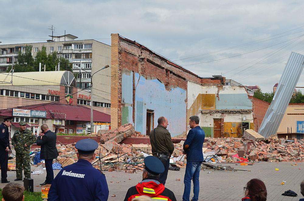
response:
[[[146,178],[143,179],[136,186],[131,187],[126,194],[124,201],[131,201],[133,198],[138,196],[148,196],[153,200],[168,200],[168,201],[176,201],[174,193],[165,188],[163,184],[160,182]]]

